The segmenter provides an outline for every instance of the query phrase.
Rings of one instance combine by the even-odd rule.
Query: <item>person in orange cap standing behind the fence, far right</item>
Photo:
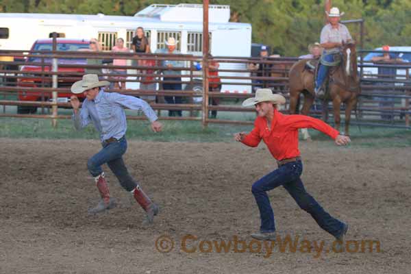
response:
[[[390,54],[390,46],[385,45],[382,47],[382,50],[384,51],[382,56],[374,56],[371,58],[371,61],[375,62],[375,64],[395,64],[395,62],[402,62],[403,60],[401,58],[396,58],[395,54]],[[388,79],[388,80],[393,80],[395,79],[397,75],[397,69],[393,67],[378,67],[378,75],[379,79]],[[390,86],[392,83],[388,82],[377,82],[375,83],[377,86]],[[381,90],[383,94],[386,94],[386,92],[389,92],[389,90]],[[394,108],[394,98],[390,97],[376,97],[375,99],[378,99],[379,102],[379,107],[380,108]],[[393,113],[387,113],[387,112],[382,112],[381,114],[381,119],[383,120],[392,120],[394,118]]]

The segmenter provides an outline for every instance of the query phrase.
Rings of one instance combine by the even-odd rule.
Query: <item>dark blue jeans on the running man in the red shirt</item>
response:
[[[280,166],[275,171],[265,175],[253,184],[251,192],[260,210],[260,232],[275,232],[273,208],[271,208],[267,191],[284,186],[298,206],[311,214],[312,218],[329,234],[339,236],[343,230],[343,223],[329,215],[316,200],[308,194],[300,179],[303,172],[301,160],[289,162]]]

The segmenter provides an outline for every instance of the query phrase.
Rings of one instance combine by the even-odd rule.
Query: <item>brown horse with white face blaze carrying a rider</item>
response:
[[[308,60],[299,60],[292,65],[289,74],[290,87],[290,114],[299,111],[299,97],[304,95],[304,104],[301,114],[308,115],[312,103],[314,103],[314,73],[306,68]],[[349,135],[349,121],[351,110],[356,106],[357,95],[360,94],[360,82],[357,77],[356,45],[345,44],[342,60],[338,66],[329,68],[328,91],[325,94],[325,102],[332,101],[334,110],[335,129],[340,130],[340,105],[345,103],[345,135]],[[327,81],[327,79],[325,80]],[[323,104],[323,118],[327,103]],[[307,129],[303,130],[304,139],[310,139]]]

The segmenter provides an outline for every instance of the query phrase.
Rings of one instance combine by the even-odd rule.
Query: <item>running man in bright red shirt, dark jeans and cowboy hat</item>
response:
[[[261,140],[277,160],[278,169],[258,179],[251,188],[260,210],[260,230],[251,237],[257,240],[275,240],[275,222],[267,191],[284,186],[299,207],[309,214],[329,234],[343,240],[348,225],[327,213],[306,191],[301,181],[303,164],[298,149],[298,129],[314,128],[333,138],[336,145],[347,145],[348,136],[340,135],[336,129],[319,119],[305,115],[285,115],[278,111],[279,105],[286,103],[282,95],[273,94],[268,88],[256,91],[256,97],[245,100],[245,107],[254,106],[257,118],[249,133],[234,134],[234,139],[249,147],[257,147]]]

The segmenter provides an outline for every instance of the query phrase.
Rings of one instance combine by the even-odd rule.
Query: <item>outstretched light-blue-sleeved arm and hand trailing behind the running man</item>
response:
[[[151,128],[153,129],[153,131],[161,131],[162,124],[157,121],[158,116],[146,101],[129,95],[121,95],[116,92],[110,93],[110,101],[121,105],[121,107],[123,108],[129,108],[130,110],[142,110],[147,119],[149,119],[149,121],[151,122]]]

